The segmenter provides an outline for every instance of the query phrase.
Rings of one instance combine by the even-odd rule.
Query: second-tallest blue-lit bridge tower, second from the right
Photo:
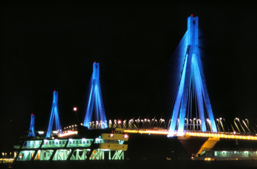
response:
[[[99,63],[93,63],[93,74],[91,76],[89,86],[90,92],[88,96],[88,105],[83,125],[88,128],[93,128],[94,122],[94,125],[96,125],[96,127],[99,126],[99,128],[107,128],[108,126],[99,80]]]

